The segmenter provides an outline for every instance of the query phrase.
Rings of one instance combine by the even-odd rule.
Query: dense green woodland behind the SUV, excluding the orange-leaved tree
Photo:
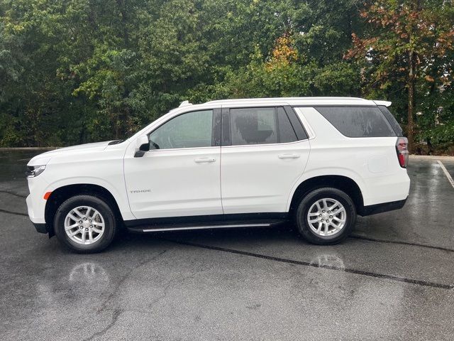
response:
[[[410,2],[380,0],[383,17]],[[454,22],[450,1],[421,3],[424,20],[437,23],[438,32],[439,23]],[[453,36],[438,35],[435,45],[430,34],[401,43],[404,38],[384,27],[392,22],[376,26],[365,19],[365,11],[377,11],[370,4],[0,0],[0,146],[120,139],[184,99],[391,99],[405,126],[405,60],[399,55],[413,46],[425,56],[415,84],[416,139],[434,152],[448,150],[454,140]],[[367,58],[344,59],[358,48],[353,33],[379,38]],[[389,58],[381,58],[390,44]]]

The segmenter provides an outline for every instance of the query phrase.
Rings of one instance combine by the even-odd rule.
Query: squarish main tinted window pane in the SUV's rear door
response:
[[[232,146],[243,144],[276,144],[275,108],[231,109]]]

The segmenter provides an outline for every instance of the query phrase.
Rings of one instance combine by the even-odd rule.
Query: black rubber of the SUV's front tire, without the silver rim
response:
[[[85,205],[93,207],[104,218],[104,233],[99,240],[88,245],[77,244],[65,232],[65,218],[67,214],[74,208]],[[58,207],[57,212],[55,212],[54,229],[59,242],[71,251],[79,254],[92,254],[109,247],[114,240],[118,227],[114,211],[105,200],[92,195],[75,195]]]

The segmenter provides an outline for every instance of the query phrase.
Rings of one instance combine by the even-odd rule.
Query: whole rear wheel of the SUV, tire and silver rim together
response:
[[[333,207],[336,202],[339,205]],[[328,210],[330,207],[332,211]],[[301,198],[294,218],[298,232],[308,242],[331,245],[348,237],[355,226],[356,209],[353,200],[343,191],[318,188]]]

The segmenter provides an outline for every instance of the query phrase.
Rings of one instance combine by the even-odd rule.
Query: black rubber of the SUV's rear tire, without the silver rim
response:
[[[312,205],[317,201],[324,198],[331,198],[341,202],[345,208],[345,223],[340,231],[333,233],[329,236],[321,236],[316,234],[308,222],[308,212]],[[316,208],[316,207],[314,207]],[[314,212],[314,211],[311,211]],[[329,217],[328,217],[329,218]],[[301,198],[297,210],[295,212],[295,223],[297,225],[298,232],[301,234],[304,239],[312,244],[318,245],[331,245],[341,242],[343,239],[348,237],[353,227],[355,226],[356,221],[356,209],[353,200],[341,190],[337,188],[317,188],[311,192],[304,195]],[[322,225],[324,227],[324,225]]]

